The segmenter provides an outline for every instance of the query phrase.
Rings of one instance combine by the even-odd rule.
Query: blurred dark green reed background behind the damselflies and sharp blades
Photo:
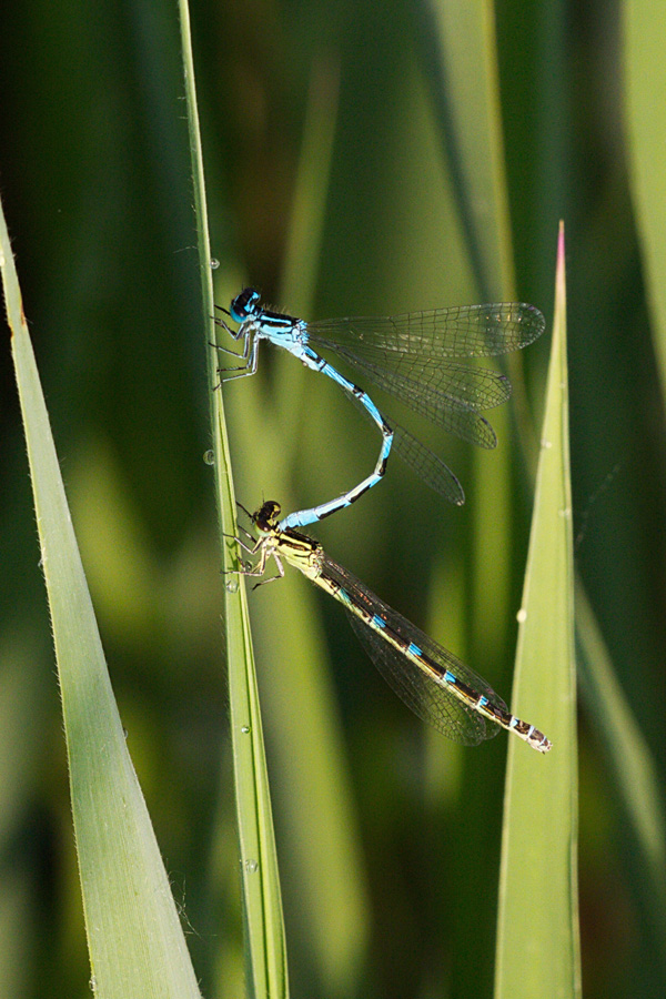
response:
[[[666,42],[660,7],[636,7]],[[664,410],[629,171],[640,131],[625,117],[624,83],[647,57],[625,43],[627,11],[498,0],[494,37],[492,6],[462,0],[191,7],[220,304],[252,283],[305,317],[517,297],[549,322],[565,220],[576,562],[663,775]],[[0,53],[0,190],[111,677],[203,992],[234,997],[222,583],[176,9],[3,4]],[[485,117],[495,99],[503,153]],[[652,101],[664,134],[666,91]],[[316,532],[507,700],[547,340],[509,366],[516,405],[491,415],[496,452],[408,424],[458,473],[464,508],[394,462]],[[1,356],[0,993],[85,996],[53,652]],[[225,390],[246,506],[321,502],[373,466],[376,434],[324,381],[264,347],[256,377]],[[464,750],[424,730],[296,573],[251,603],[293,995],[490,996],[505,736]],[[584,991],[663,996],[664,941],[592,718],[583,699]]]

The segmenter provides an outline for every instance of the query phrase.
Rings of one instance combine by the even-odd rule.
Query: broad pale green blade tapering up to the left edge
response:
[[[111,689],[0,211],[0,268],[32,477],[97,996],[199,997]]]

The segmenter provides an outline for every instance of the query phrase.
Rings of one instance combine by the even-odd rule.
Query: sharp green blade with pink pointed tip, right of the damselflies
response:
[[[514,739],[506,773],[496,999],[581,992],[577,743],[564,230],[546,412],[525,574],[512,710],[553,740]]]

